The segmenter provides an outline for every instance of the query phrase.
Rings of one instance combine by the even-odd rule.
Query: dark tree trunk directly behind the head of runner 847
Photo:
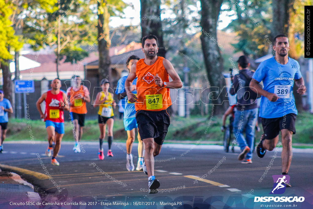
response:
[[[141,39],[152,34],[158,38],[158,56],[164,57],[166,50],[163,42],[163,31],[161,22],[161,0],[140,0],[141,3]]]

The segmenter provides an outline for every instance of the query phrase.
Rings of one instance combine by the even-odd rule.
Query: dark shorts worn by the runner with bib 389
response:
[[[282,129],[288,129],[295,134],[295,117],[294,113],[290,113],[280,118],[262,118],[265,139],[275,138]]]

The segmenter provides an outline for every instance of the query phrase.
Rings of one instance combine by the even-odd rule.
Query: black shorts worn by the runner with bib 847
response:
[[[154,138],[156,144],[163,144],[168,127],[171,123],[170,115],[166,110],[138,110],[136,112],[136,120],[141,140]]]

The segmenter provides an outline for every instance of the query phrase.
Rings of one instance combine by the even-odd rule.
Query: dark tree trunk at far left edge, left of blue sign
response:
[[[11,80],[11,72],[9,67],[10,60],[3,60],[1,62],[2,76],[3,76],[3,93],[4,97],[10,100],[11,104],[13,104],[13,82]],[[13,107],[14,109],[14,107]],[[9,113],[9,117],[11,118],[13,114]]]

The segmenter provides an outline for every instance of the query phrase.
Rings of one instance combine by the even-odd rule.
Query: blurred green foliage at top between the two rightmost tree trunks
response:
[[[224,2],[229,11],[229,16],[236,16],[224,30],[236,32],[238,43],[232,44],[235,52],[243,52],[252,55],[254,58],[264,56],[268,53],[269,44],[264,36],[270,34],[271,7],[268,1],[264,0],[243,0],[238,5],[234,1]],[[232,11],[232,12],[231,12]]]

